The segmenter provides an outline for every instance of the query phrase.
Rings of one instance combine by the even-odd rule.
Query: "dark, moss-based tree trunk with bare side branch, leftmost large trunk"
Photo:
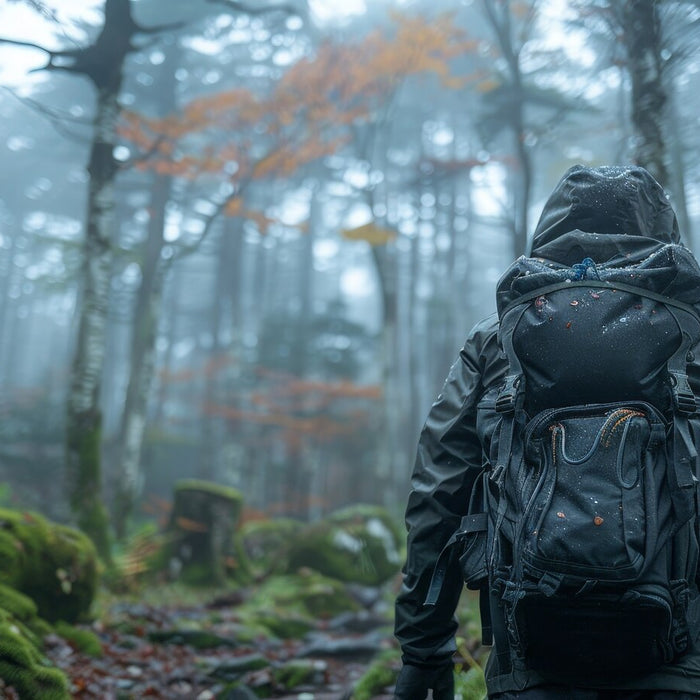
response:
[[[138,31],[130,0],[105,0],[105,22],[93,44],[69,52],[72,61],[57,66],[88,77],[97,90],[94,132],[90,148],[83,289],[78,338],[66,411],[66,486],[78,526],[110,560],[107,515],[102,503],[100,385],[105,356],[109,282],[112,269],[110,237],[114,228],[114,159],[124,62]]]

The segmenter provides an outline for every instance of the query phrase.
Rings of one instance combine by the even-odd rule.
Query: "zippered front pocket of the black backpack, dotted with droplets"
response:
[[[542,464],[522,527],[535,570],[579,579],[636,579],[657,531],[653,471],[663,424],[646,404],[573,407],[528,428]],[[532,451],[530,452],[532,456]]]

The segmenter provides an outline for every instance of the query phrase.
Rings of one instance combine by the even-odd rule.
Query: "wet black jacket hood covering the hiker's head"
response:
[[[595,252],[596,262],[606,262],[645,257],[669,243],[680,243],[678,221],[649,172],[639,166],[575,165],[544,205],[529,254],[573,264]]]

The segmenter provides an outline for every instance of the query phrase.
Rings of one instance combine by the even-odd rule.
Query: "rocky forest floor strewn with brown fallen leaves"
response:
[[[300,639],[241,643],[233,633],[240,621],[232,596],[186,602],[164,593],[149,601],[154,596],[157,591],[103,604],[98,621],[86,626],[101,642],[98,658],[61,637],[47,639],[47,656],[70,679],[74,698],[342,700],[378,653],[395,648],[387,612],[318,620]],[[304,680],[289,687],[300,670]],[[16,696],[9,690],[6,697]],[[390,698],[391,688],[373,697]]]

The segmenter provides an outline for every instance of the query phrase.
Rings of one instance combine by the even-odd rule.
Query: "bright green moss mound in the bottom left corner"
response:
[[[69,700],[68,683],[61,671],[49,665],[37,641],[9,613],[0,613],[0,678],[22,698]]]

